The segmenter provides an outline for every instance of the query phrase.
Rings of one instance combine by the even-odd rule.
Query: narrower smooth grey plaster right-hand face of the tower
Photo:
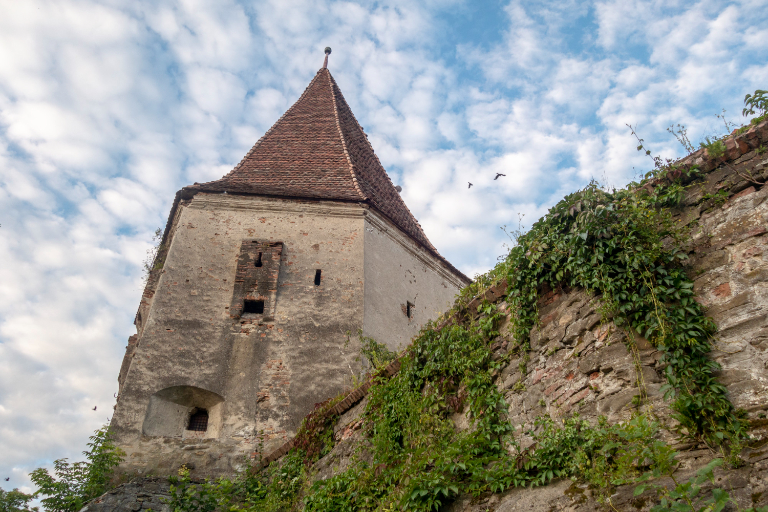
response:
[[[375,210],[366,215],[364,240],[363,333],[386,343],[390,350],[405,348],[422,325],[450,308],[468,282]]]

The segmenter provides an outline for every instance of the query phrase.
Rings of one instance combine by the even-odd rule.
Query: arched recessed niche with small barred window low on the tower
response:
[[[217,438],[224,399],[194,386],[172,386],[152,395],[141,431],[167,438]]]

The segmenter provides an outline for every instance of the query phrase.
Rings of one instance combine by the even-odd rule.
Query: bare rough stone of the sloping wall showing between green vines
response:
[[[699,150],[683,160],[699,164],[703,177],[686,183],[686,194],[674,211],[674,220],[690,229],[684,248],[690,259],[684,266],[695,279],[697,300],[719,328],[710,357],[723,366],[718,375],[720,383],[727,387],[733,405],[746,411],[749,421],[753,442],[740,454],[745,465],[715,471],[717,485],[743,509],[768,505],[768,187],[763,185],[768,179],[768,123],[731,137],[726,144],[723,158],[709,158],[705,150]],[[504,294],[505,289],[496,286],[486,292],[485,298],[504,307]],[[470,314],[477,315],[480,299],[470,303]],[[511,421],[521,425],[518,439],[523,448],[531,444],[524,431],[538,416],[561,421],[578,412],[588,421],[604,415],[616,422],[646,405],[667,429],[660,432],[662,438],[674,443],[671,430],[675,422],[660,393],[664,382],[660,353],[643,338],[603,318],[595,299],[580,289],[542,290],[540,325],[531,335],[528,363],[520,368],[519,360],[509,361],[495,377],[495,385],[505,395]],[[499,360],[505,357],[510,341],[508,323],[502,323],[501,328],[502,335],[494,345],[494,357]],[[390,367],[388,372],[394,373],[399,365],[393,363]],[[641,390],[648,398],[646,405],[633,400],[642,394]],[[364,390],[353,392],[339,404],[335,412],[342,414],[334,426],[336,446],[314,464],[313,478],[328,478],[344,471],[359,448],[362,452],[358,456],[365,456],[361,428],[364,395]],[[319,396],[317,401],[328,396]],[[457,429],[468,428],[463,411],[453,419]],[[279,457],[286,447],[290,448],[290,443],[267,459]],[[687,480],[698,467],[720,456],[690,442],[673,444],[673,448],[680,452],[678,481]],[[633,497],[633,490],[634,485],[618,487],[611,497],[612,510],[650,510],[655,502],[650,491]],[[445,510],[550,512],[603,508],[588,486],[555,480],[534,489],[459,497]]]

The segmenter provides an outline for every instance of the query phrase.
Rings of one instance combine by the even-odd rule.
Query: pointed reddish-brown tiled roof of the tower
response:
[[[369,203],[465,277],[439,255],[403,203],[327,68],[230,173],[184,188]]]

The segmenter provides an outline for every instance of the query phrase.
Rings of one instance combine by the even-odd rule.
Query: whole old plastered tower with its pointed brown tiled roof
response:
[[[121,471],[275,448],[359,372],[359,329],[405,346],[468,282],[323,66],[230,173],[176,195],[118,377]]]

